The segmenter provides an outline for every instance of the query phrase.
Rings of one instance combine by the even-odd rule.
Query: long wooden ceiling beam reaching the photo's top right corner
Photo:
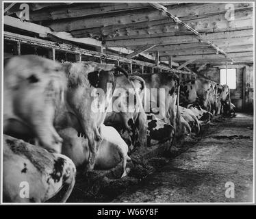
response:
[[[236,10],[241,8],[252,8],[253,3],[233,3]],[[225,3],[188,3],[185,5],[170,5],[168,9],[172,10],[173,14],[178,17],[183,16],[199,16],[200,14],[211,14],[227,12],[225,9]],[[107,16],[88,16],[69,20],[56,20],[49,23],[55,31],[74,31],[76,29],[88,29],[92,27],[106,27],[109,25],[127,25],[135,24],[139,22],[149,22],[155,20],[162,20],[162,14],[154,10],[138,10],[137,12],[120,13],[113,16],[108,14]]]

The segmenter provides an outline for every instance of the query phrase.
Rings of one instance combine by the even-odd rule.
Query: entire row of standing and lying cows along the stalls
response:
[[[203,77],[180,83],[173,73],[128,75],[114,64],[35,55],[4,60],[3,88],[5,202],[44,202],[64,188],[66,201],[77,170],[122,162],[125,177],[133,151],[171,146],[231,109],[228,86]]]

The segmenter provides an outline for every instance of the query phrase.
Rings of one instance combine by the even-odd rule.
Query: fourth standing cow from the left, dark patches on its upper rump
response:
[[[179,105],[179,77],[174,73],[144,74],[141,77],[146,81],[145,111],[175,127],[177,138],[190,133],[190,125],[181,116],[179,107],[175,107]]]

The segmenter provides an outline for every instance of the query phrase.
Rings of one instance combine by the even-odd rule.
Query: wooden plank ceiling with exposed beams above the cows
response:
[[[205,41],[227,52],[235,63],[253,62],[253,3],[232,3],[233,21],[226,18],[227,3],[161,4],[199,31]],[[158,52],[160,61],[168,61],[171,55],[179,64],[189,60],[192,64],[230,62],[149,3],[29,3],[29,9],[32,23],[69,32],[75,38],[101,40],[107,48],[136,51],[148,45],[145,53]],[[11,8],[8,14],[15,10]]]

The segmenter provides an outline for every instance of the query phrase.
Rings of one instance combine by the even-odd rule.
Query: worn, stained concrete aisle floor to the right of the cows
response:
[[[222,203],[253,201],[253,116],[214,125],[209,135],[113,202]],[[225,196],[233,182],[234,198]],[[230,194],[230,193],[229,193]]]

